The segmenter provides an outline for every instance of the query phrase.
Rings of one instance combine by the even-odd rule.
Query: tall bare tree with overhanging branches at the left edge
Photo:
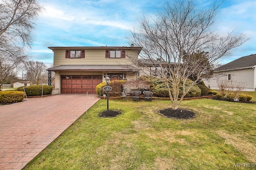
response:
[[[0,77],[1,83],[8,76],[17,74],[19,65],[28,56],[23,47],[30,46],[34,20],[42,6],[37,0],[1,0],[0,1]],[[0,84],[0,86],[2,85]]]

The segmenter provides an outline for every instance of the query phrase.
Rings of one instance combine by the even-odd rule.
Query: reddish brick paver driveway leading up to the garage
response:
[[[22,169],[98,100],[58,94],[0,106],[0,170]]]

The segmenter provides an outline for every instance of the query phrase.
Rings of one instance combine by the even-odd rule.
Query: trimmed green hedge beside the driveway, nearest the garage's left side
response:
[[[48,85],[35,85],[35,86],[26,86],[25,92],[27,96],[41,96],[42,95],[42,86],[43,87],[43,95],[52,93],[52,86]],[[18,91],[24,91],[23,88],[17,89]]]

